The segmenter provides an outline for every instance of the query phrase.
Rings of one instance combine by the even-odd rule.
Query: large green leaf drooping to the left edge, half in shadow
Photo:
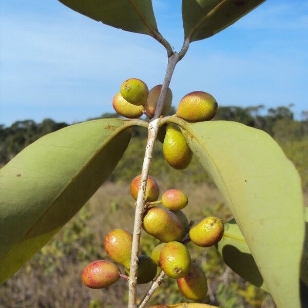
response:
[[[129,140],[129,121],[84,122],[47,134],[0,169],[0,284],[87,202]]]

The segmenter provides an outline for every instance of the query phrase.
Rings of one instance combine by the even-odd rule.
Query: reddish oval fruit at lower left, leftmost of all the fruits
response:
[[[83,283],[90,288],[104,288],[120,278],[120,269],[117,265],[98,260],[89,263],[82,272]]]

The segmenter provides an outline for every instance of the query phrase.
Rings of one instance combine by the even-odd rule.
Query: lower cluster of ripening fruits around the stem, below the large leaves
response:
[[[130,185],[134,200],[137,200],[140,179],[141,176],[137,176]],[[177,279],[184,296],[191,300],[201,300],[207,294],[206,277],[202,268],[192,263],[185,244],[191,241],[201,247],[215,245],[223,236],[223,223],[217,217],[207,217],[189,224],[182,211],[188,204],[184,192],[169,189],[158,201],[159,193],[157,181],[148,176],[143,229],[162,243],[153,249],[151,257],[139,256],[137,283],[153,280],[157,275],[157,266],[160,266],[167,276]],[[122,264],[125,274],[129,275],[132,235],[123,229],[112,230],[106,236],[104,245],[107,255]],[[126,275],[120,273],[117,265],[99,260],[84,268],[82,280],[88,287],[103,288],[120,277],[128,279]]]

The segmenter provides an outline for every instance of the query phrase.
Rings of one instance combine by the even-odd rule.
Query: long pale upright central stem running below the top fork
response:
[[[160,92],[157,107],[153,118],[150,120],[148,126],[148,140],[145,149],[145,155],[141,171],[140,186],[137,197],[137,205],[134,217],[133,235],[132,235],[132,247],[131,247],[131,258],[130,258],[130,273],[128,280],[128,308],[137,308],[137,275],[138,275],[138,255],[139,255],[139,244],[141,236],[142,219],[145,205],[145,189],[147,183],[147,177],[149,174],[150,164],[152,160],[153,147],[157,138],[158,133],[158,121],[161,115],[167,89],[170,84],[172,73],[176,67],[176,64],[180,61],[178,53],[172,54],[168,58],[168,66],[165,74],[164,83]]]

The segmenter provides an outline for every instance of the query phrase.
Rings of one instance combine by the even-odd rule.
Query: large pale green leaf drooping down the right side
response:
[[[304,220],[294,165],[264,131],[227,121],[170,121],[182,126],[224,196],[277,306],[300,307]]]

